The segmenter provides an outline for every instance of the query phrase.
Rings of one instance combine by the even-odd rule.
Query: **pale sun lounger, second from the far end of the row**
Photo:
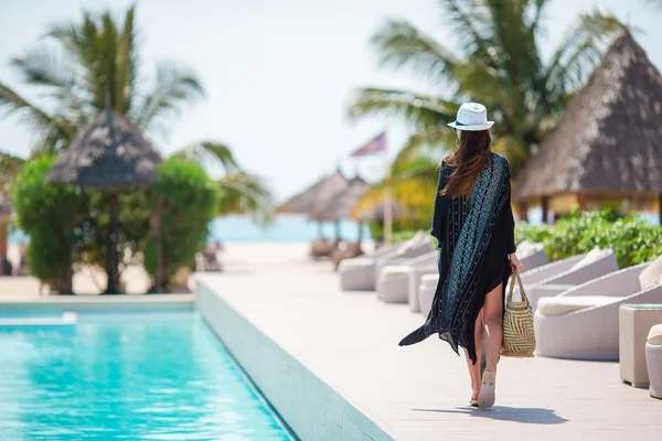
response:
[[[377,298],[386,303],[407,303],[409,278],[416,269],[436,268],[437,251],[429,251],[397,265],[391,261],[382,268],[377,278]],[[396,265],[394,265],[396,263]]]

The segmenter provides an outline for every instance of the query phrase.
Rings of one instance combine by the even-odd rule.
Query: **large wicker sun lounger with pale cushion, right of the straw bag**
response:
[[[662,260],[659,263],[662,270]],[[655,269],[656,265],[642,263],[541,299],[534,320],[537,353],[559,358],[618,359],[620,305],[662,303],[660,275],[656,284],[647,281]]]

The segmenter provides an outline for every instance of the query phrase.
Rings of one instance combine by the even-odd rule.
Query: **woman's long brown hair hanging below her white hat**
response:
[[[460,133],[458,150],[446,157],[445,162],[455,168],[440,194],[451,198],[470,196],[480,172],[485,168],[492,153],[490,130]]]

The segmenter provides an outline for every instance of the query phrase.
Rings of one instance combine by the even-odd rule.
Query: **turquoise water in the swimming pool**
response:
[[[290,439],[194,313],[55,327],[0,327],[0,440]]]

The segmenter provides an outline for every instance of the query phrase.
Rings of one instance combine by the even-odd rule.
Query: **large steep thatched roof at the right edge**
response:
[[[659,201],[662,212],[662,76],[629,32],[568,104],[516,182],[513,200]],[[662,215],[662,213],[661,213]]]

